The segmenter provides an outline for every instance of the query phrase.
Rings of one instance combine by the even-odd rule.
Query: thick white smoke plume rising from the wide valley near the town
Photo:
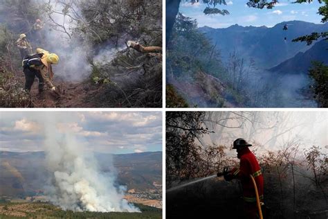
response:
[[[140,210],[125,200],[125,186],[116,186],[115,170],[102,173],[96,159],[73,134],[58,131],[45,119],[46,166],[51,179],[46,193],[53,204],[71,211]]]

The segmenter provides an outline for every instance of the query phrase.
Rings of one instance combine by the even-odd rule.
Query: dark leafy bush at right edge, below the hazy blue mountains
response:
[[[328,66],[322,62],[312,62],[309,76],[313,78],[311,88],[314,98],[320,103],[320,107],[328,107]]]

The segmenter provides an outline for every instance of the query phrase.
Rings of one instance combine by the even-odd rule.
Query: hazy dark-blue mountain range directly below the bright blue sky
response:
[[[288,25],[288,30],[283,30],[285,24]],[[199,30],[210,39],[212,44],[217,44],[216,48],[221,51],[224,61],[228,60],[230,53],[237,51],[240,57],[255,60],[256,66],[260,69],[271,69],[294,58],[295,55],[298,55],[300,59],[300,55],[311,49],[314,43],[307,46],[305,42],[291,42],[291,40],[313,32],[327,31],[328,23],[313,24],[306,21],[286,21],[271,28],[235,24],[228,28],[203,26]],[[285,37],[286,40],[284,40]],[[318,54],[324,54],[322,51],[325,49],[322,48]]]

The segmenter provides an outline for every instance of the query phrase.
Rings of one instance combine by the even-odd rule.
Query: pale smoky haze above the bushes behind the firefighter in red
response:
[[[215,133],[201,138],[204,146],[230,146],[242,137],[266,153],[296,139],[301,148],[314,145],[328,152],[327,112],[206,112],[206,126]]]

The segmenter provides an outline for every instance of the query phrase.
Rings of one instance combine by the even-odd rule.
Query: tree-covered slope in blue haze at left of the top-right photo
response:
[[[167,78],[198,87],[207,105],[223,107],[228,72],[221,62],[219,50],[197,29],[197,21],[181,13],[176,17],[172,40],[167,48]],[[214,76],[215,78],[212,78]],[[229,87],[230,84],[227,85]],[[235,96],[233,97],[235,98]],[[167,87],[167,106],[184,105],[171,87]]]

